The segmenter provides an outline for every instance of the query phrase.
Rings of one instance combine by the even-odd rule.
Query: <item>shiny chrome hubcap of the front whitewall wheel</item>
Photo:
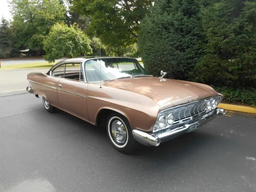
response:
[[[114,140],[122,144],[126,141],[127,138],[127,132],[125,125],[120,120],[114,120],[111,126],[112,136]]]

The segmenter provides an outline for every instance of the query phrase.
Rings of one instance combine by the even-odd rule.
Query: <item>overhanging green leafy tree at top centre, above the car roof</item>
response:
[[[90,16],[90,31],[104,44],[129,46],[137,41],[141,20],[150,12],[153,0],[70,0],[71,10]]]

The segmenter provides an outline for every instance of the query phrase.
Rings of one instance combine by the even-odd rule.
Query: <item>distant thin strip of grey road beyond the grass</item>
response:
[[[61,61],[63,59],[57,59],[56,62]],[[27,64],[27,63],[48,63],[48,61],[44,59],[10,59],[10,60],[0,60],[1,66],[9,66],[9,65],[18,65],[18,64]]]

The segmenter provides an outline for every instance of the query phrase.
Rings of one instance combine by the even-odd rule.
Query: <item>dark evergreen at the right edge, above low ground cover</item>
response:
[[[205,55],[200,82],[256,88],[256,1],[221,0],[202,9]]]

